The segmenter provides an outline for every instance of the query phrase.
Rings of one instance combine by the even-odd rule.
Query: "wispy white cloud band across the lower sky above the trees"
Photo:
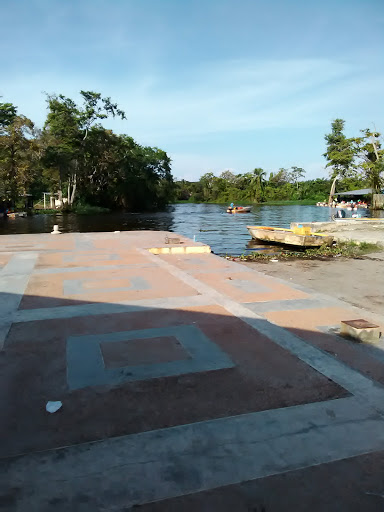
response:
[[[253,165],[252,148],[248,155],[231,152],[226,142],[221,150],[199,148],[215,134],[229,142],[231,137],[239,140],[242,132],[278,128],[289,139],[290,129],[305,137],[308,128],[329,127],[335,117],[347,119],[347,128],[356,131],[384,114],[373,101],[380,97],[383,74],[329,59],[228,60],[184,66],[172,75],[144,67],[137,75],[126,68],[119,73],[111,78],[100,70],[69,70],[65,75],[51,71],[32,73],[27,81],[20,75],[0,84],[0,95],[39,125],[46,115],[43,90],[74,98],[79,89],[111,96],[126,111],[127,121],[108,120],[105,125],[140,143],[164,147],[171,153],[176,176],[186,179],[228,167],[244,172]],[[301,141],[292,144],[299,152]],[[307,163],[298,158],[292,165],[305,167],[308,177],[324,176],[324,165],[316,163],[323,140],[310,145]],[[289,167],[286,155],[265,153],[260,160],[267,162],[266,168],[280,161]]]

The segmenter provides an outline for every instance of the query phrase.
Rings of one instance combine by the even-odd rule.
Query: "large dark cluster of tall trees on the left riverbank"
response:
[[[47,95],[42,129],[0,103],[0,201],[20,203],[43,192],[65,198],[65,207],[90,204],[111,209],[159,208],[172,201],[171,159],[157,147],[105,129],[125,113],[108,97],[81,91],[81,104]]]

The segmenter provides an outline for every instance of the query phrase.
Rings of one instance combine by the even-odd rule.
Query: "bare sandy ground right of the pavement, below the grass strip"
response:
[[[359,259],[280,260],[244,262],[248,268],[284,279],[315,292],[330,295],[352,306],[383,314],[384,251]]]

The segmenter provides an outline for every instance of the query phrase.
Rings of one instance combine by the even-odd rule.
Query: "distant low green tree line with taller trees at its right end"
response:
[[[190,202],[268,202],[324,201],[332,185],[338,181],[339,192],[372,188],[379,193],[384,186],[384,151],[380,133],[361,130],[361,136],[347,138],[345,121],[332,122],[331,132],[325,135],[326,167],[329,177],[305,180],[302,167],[280,168],[267,172],[257,167],[251,172],[235,174],[229,170],[219,176],[208,172],[199,181],[176,182],[176,197]]]

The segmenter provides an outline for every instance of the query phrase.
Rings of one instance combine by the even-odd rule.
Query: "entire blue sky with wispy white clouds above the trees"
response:
[[[165,149],[177,178],[302,166],[332,119],[384,132],[382,0],[2,0],[0,95],[111,96],[105,126]]]

